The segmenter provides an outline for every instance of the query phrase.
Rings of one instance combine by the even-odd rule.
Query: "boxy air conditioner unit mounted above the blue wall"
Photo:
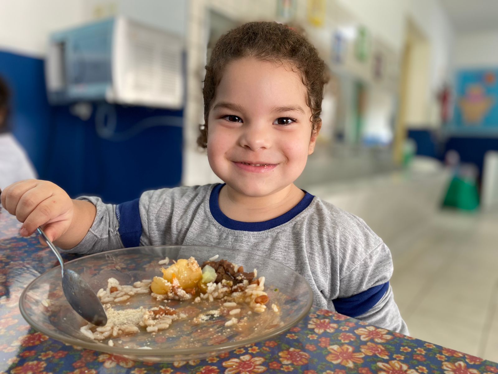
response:
[[[45,64],[49,102],[180,109],[183,52],[181,36],[121,16],[55,32]]]

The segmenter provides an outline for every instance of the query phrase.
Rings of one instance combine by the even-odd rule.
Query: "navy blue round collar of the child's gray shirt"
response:
[[[313,200],[312,194],[306,192],[304,197],[290,209],[288,212],[276,217],[269,219],[267,221],[262,222],[242,222],[236,221],[235,219],[227,217],[220,209],[220,205],[218,203],[218,198],[220,196],[220,190],[225,184],[219,184],[213,188],[211,191],[211,195],[209,196],[209,209],[211,210],[211,215],[216,221],[226,228],[230,228],[232,230],[239,231],[264,231],[269,230],[270,228],[277,227],[283,223],[290,221],[296,215],[301,213],[304,209],[308,207],[308,205]]]

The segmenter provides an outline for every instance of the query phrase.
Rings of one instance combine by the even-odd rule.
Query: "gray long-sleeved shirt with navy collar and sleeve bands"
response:
[[[73,253],[138,245],[209,245],[272,258],[309,282],[314,304],[378,327],[408,334],[389,279],[391,254],[360,218],[306,193],[289,212],[265,222],[240,222],[218,205],[223,185],[144,192],[137,200],[97,207],[97,216]]]

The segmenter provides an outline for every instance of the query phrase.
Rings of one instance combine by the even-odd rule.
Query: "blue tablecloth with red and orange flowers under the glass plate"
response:
[[[36,237],[18,235],[19,227],[0,210],[0,373],[498,373],[497,363],[317,308],[274,340],[201,361],[134,362],[68,346],[31,329],[19,312],[24,287],[56,265]]]

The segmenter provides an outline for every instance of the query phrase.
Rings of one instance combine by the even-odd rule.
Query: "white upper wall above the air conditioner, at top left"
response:
[[[183,0],[0,0],[0,49],[41,58],[52,31],[116,14],[184,35],[187,5]]]

